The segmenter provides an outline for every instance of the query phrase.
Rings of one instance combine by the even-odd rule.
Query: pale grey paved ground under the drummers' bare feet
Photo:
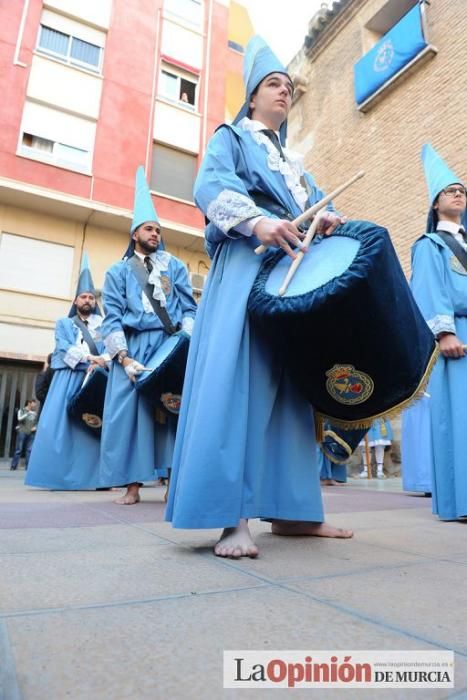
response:
[[[273,537],[255,521],[261,556],[235,562],[212,556],[216,532],[163,522],[161,487],[123,507],[23,477],[0,465],[1,700],[287,693],[223,690],[224,649],[451,649],[455,690],[313,697],[467,698],[467,524],[439,522],[399,480],[325,488],[329,522],[353,540]]]

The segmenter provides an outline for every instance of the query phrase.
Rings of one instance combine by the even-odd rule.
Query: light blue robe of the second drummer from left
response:
[[[170,256],[164,277],[169,290],[166,309],[172,323],[193,319],[196,303],[184,264]],[[108,270],[103,299],[106,317],[102,333],[110,356],[127,349],[130,357],[146,365],[168,335],[156,313],[145,311],[141,287],[126,261]],[[164,424],[155,421],[154,409],[136,391],[123,366],[113,361],[101,438],[102,485],[151,481],[156,469],[169,468],[175,430],[176,421],[172,418]]]

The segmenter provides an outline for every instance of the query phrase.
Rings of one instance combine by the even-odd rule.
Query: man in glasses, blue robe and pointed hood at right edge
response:
[[[429,144],[422,160],[431,208],[428,233],[413,247],[411,286],[440,350],[428,388],[431,440],[423,449],[431,452],[433,512],[456,520],[467,516],[466,190]]]

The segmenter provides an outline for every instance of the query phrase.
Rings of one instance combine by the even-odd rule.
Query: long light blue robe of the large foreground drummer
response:
[[[322,192],[307,180],[314,202]],[[233,229],[262,213],[248,196],[252,190],[300,213],[283,175],[268,167],[265,147],[241,128],[222,127],[195,184],[198,206],[217,225],[206,229],[214,260],[196,317],[175,444],[166,512],[174,527],[324,519],[311,406],[247,317],[262,258],[254,254],[258,240]]]

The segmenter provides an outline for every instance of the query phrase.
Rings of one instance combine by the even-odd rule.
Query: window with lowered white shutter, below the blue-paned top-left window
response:
[[[51,107],[26,102],[19,153],[72,170],[91,170],[95,123]]]

